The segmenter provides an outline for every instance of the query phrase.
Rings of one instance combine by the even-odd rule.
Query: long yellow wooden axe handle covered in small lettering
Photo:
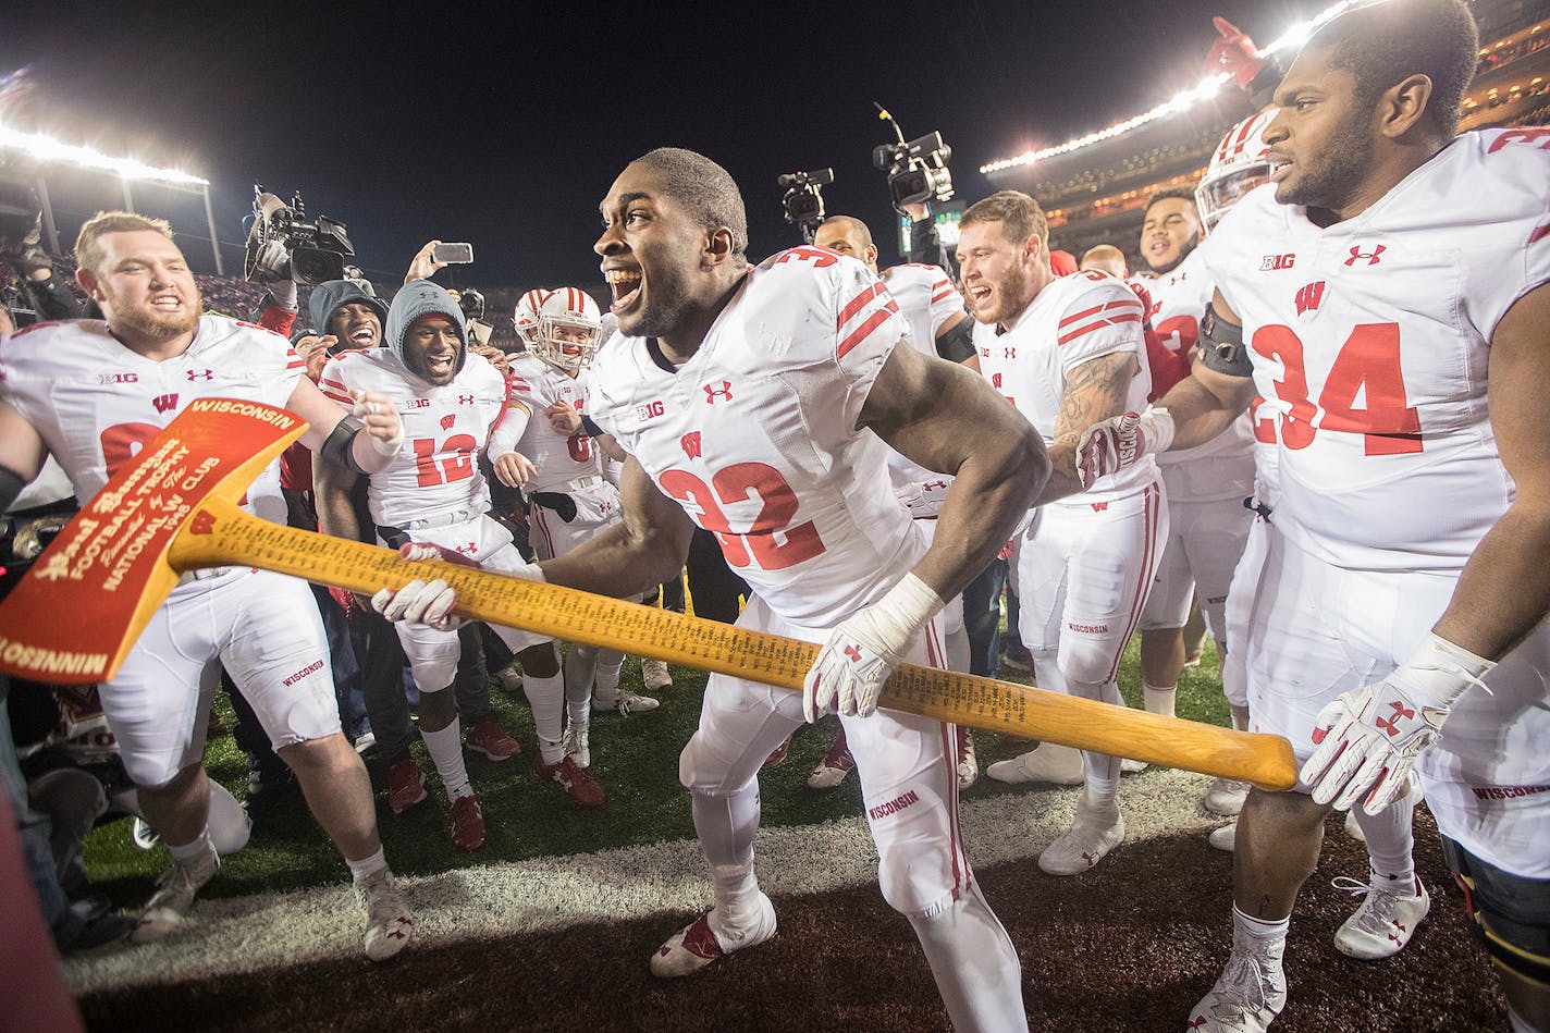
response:
[[[801,689],[818,655],[809,642],[699,620],[606,596],[491,574],[457,563],[406,563],[360,541],[282,527],[222,499],[206,499],[177,532],[167,561],[177,571],[245,565],[372,594],[440,577],[457,591],[457,613],[567,642],[586,642],[701,670]],[[972,727],[1026,735],[1118,757],[1251,782],[1296,783],[1291,745],[1279,735],[1079,700],[976,675],[904,664],[882,706]]]

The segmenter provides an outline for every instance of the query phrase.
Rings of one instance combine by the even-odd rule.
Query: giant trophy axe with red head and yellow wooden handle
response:
[[[801,689],[818,647],[558,585],[282,527],[237,507],[253,478],[307,425],[285,409],[200,399],[124,462],[0,603],[0,670],[107,681],[184,571],[254,566],[356,593],[445,579],[457,613],[673,664]],[[882,704],[997,732],[1286,789],[1279,735],[1077,700],[990,678],[902,665]]]

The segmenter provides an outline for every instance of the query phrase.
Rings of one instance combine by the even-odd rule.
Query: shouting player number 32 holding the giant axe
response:
[[[972,372],[902,344],[897,304],[860,262],[794,248],[749,268],[742,197],[713,161],[653,150],[601,211],[620,332],[589,406],[629,453],[625,520],[539,571],[637,596],[677,574],[698,523],[753,588],[739,627],[823,644],[803,693],[710,676],[679,777],[716,906],[662,945],[653,973],[687,976],[775,935],[753,872],[760,765],[804,718],[839,710],[884,898],[919,937],[953,1027],[1026,1028],[1017,952],[963,848],[953,729],[876,707],[897,664],[942,662],[942,600],[1048,476],[1037,436]],[[887,447],[956,475],[928,548]],[[440,582],[400,596],[436,593],[450,596]]]

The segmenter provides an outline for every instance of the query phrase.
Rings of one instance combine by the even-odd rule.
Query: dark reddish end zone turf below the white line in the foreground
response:
[[[1496,976],[1472,941],[1437,830],[1417,810],[1417,870],[1432,910],[1386,962],[1333,945],[1366,881],[1361,844],[1328,821],[1319,870],[1286,949],[1291,997],[1277,1033],[1505,1030]],[[980,873],[1023,962],[1034,1030],[1183,1030],[1231,945],[1231,856],[1190,834],[1127,842],[1059,879],[1029,859]],[[682,980],[651,951],[691,915],[415,949],[81,1000],[93,1030],[946,1030],[908,923],[876,886],[775,900],[780,935]]]

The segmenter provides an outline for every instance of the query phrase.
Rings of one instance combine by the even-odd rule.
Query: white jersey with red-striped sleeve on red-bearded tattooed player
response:
[[[1057,276],[1004,333],[997,333],[997,327],[986,323],[975,324],[980,372],[1028,417],[1045,445],[1052,445],[1066,374],[1094,358],[1127,352],[1139,369],[1130,380],[1125,409],[1139,413],[1152,391],[1141,309],[1136,293],[1107,273]],[[1100,478],[1087,492],[1054,504],[1087,506],[1130,495],[1156,475],[1156,462],[1147,456],[1133,467]]]

